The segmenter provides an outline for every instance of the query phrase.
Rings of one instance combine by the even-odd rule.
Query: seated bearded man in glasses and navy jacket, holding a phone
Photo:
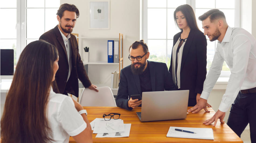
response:
[[[127,110],[141,106],[141,100],[132,99],[131,95],[142,92],[177,90],[168,71],[161,62],[148,61],[149,51],[144,40],[134,42],[129,48],[131,65],[120,71],[116,105]]]

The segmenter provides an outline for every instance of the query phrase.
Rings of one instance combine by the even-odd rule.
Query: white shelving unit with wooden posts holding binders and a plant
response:
[[[79,36],[78,34],[74,35],[77,36],[79,54],[86,69],[88,68],[87,72],[92,84],[98,87],[110,87],[111,73],[120,71],[123,68],[123,34],[119,33],[119,37],[87,37]],[[119,63],[108,63],[108,40],[119,40],[119,55],[122,55],[119,56]],[[84,47],[89,47],[89,62],[84,62]],[[79,89],[82,90],[83,88]],[[114,95],[117,95],[117,90],[117,88],[112,89]]]

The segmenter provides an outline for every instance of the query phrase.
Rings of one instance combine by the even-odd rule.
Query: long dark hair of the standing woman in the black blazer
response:
[[[175,9],[174,13],[173,13],[174,21],[175,21],[177,27],[178,27],[178,24],[177,24],[177,21],[176,21],[176,13],[178,11],[181,11],[184,14],[190,29],[199,30],[199,28],[196,24],[195,12],[194,12],[193,8],[190,5],[187,5],[187,4],[178,6]],[[180,30],[182,31],[182,29],[180,29]]]

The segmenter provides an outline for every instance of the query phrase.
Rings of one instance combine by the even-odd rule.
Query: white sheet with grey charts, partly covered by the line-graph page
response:
[[[129,137],[130,136],[131,125],[132,124],[124,124],[124,131],[123,132],[97,134],[96,138]]]

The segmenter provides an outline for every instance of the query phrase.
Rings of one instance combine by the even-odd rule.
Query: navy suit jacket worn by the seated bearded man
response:
[[[148,64],[152,91],[177,90],[165,63],[148,61]],[[132,73],[131,65],[129,65],[120,71],[116,105],[127,110],[132,110],[132,108],[128,107],[128,100],[131,95],[135,94],[141,94],[140,77]]]

